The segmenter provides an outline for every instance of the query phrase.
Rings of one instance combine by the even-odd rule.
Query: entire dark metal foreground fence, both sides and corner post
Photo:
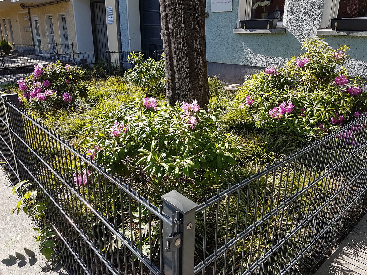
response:
[[[143,197],[1,96],[0,158],[29,180],[70,274],[309,274],[366,206],[367,116],[197,205]]]

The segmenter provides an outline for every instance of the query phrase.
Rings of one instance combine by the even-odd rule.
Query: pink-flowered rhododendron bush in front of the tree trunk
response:
[[[239,151],[238,140],[218,129],[220,113],[215,106],[200,108],[196,100],[172,106],[146,97],[103,113],[81,144],[87,156],[123,176],[218,183]]]

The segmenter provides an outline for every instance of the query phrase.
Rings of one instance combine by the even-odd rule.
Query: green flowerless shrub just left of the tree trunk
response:
[[[127,80],[147,89],[149,94],[162,94],[166,89],[164,55],[162,54],[159,60],[153,58],[145,60],[141,52],[132,52],[130,55],[128,60],[134,64],[134,68],[126,72]]]

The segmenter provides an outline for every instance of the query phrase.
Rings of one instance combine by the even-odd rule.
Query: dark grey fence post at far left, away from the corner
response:
[[[8,124],[7,126],[10,135],[11,147],[13,151],[12,153],[14,155],[15,166],[18,173],[17,175],[18,179],[19,181],[31,180],[32,178],[30,177],[27,170],[22,165],[19,165],[20,161],[28,169],[31,169],[28,148],[20,140],[20,139],[26,140],[22,115],[17,110],[13,109],[12,107],[9,107],[6,103],[7,100],[18,106],[19,105],[18,94],[5,94],[1,95],[1,97],[3,98],[3,104],[5,108],[4,110]],[[15,132],[20,139],[16,137],[12,132]]]

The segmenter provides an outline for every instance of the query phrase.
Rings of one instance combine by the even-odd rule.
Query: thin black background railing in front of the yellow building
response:
[[[122,75],[134,65],[127,59],[130,52],[127,51],[106,51],[106,52],[74,52],[73,43],[68,44],[70,52],[61,52],[59,49],[65,47],[63,44],[56,44],[56,50],[52,52],[52,44],[43,44],[41,53],[26,50],[33,45],[13,45],[18,47],[17,52],[11,55],[0,54],[0,89],[9,88],[17,83],[17,80],[27,77],[33,72],[34,65],[61,62],[69,65],[83,67],[87,77],[98,78],[112,75]],[[44,48],[50,50],[46,51]],[[143,51],[145,58],[160,58],[161,51]]]

